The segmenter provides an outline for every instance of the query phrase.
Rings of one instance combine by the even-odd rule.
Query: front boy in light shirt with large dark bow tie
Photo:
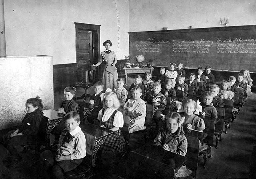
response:
[[[65,178],[64,173],[79,166],[86,156],[86,139],[79,127],[80,116],[71,111],[64,117],[65,129],[61,132],[57,144],[57,155],[44,160],[44,171],[51,171],[53,178]],[[55,160],[55,161],[54,161]],[[52,170],[49,170],[52,166]]]

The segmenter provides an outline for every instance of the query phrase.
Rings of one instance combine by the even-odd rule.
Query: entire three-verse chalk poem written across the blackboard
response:
[[[136,52],[162,53],[170,50],[173,53],[197,54],[256,54],[256,39],[220,39],[214,40],[161,40],[147,38],[146,41],[136,41]]]

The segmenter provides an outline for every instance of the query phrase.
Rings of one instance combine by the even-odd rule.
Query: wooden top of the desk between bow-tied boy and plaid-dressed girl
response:
[[[80,127],[82,128],[83,132],[94,135],[96,137],[96,140],[113,133],[112,130],[105,129],[103,127],[91,123],[83,124]]]

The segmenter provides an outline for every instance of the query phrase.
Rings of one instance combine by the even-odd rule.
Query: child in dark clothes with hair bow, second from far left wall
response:
[[[78,103],[74,100],[76,88],[66,87],[64,89],[65,100],[61,102],[61,106],[58,109],[58,113],[67,114],[70,111],[78,112]],[[55,142],[58,142],[59,136],[62,130],[65,129],[64,120],[61,120],[57,126],[51,131],[55,135]]]

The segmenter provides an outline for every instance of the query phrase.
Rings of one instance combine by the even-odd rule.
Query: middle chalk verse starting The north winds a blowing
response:
[[[209,54],[214,41],[212,40],[193,40],[193,41],[172,41],[172,50],[174,53],[202,53]]]

